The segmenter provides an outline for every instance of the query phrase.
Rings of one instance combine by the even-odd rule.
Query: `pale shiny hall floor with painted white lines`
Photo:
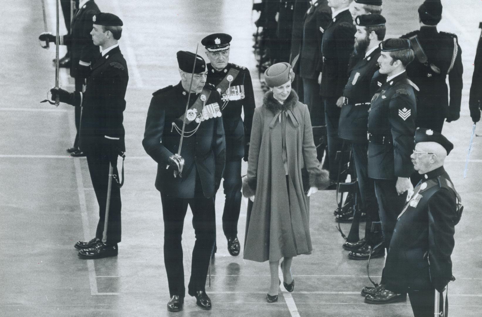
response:
[[[43,50],[41,2],[4,0],[0,12],[0,316],[412,316],[409,302],[368,305],[359,295],[369,285],[366,262],[349,261],[341,248],[332,211],[334,192],[311,197],[314,252],[293,262],[295,291],[283,288],[280,301],[268,304],[268,263],[231,257],[222,234],[222,191],[216,199],[218,253],[207,288],[213,309],[201,311],[186,298],[184,311],[168,313],[167,279],[162,258],[161,197],[154,188],[156,164],[141,140],[151,93],[179,81],[175,52],[194,51],[196,42],[212,32],[233,35],[231,61],[252,70],[258,105],[261,89],[252,54],[251,1],[120,1],[97,0],[104,12],[124,21],[120,48],[126,56],[130,82],[124,112],[127,159],[122,188],[122,243],[118,257],[79,260],[73,244],[94,235],[98,206],[84,158],[70,158],[65,149],[75,135],[68,105],[39,104],[54,85],[54,48]],[[384,1],[388,37],[417,28],[420,1]],[[461,118],[445,124],[444,134],[455,144],[446,169],[465,205],[456,227],[454,275],[450,283],[451,316],[482,315],[481,141],[463,169],[471,121],[468,111],[473,59],[480,30],[482,4],[475,0],[442,1],[440,29],[454,32],[463,50],[464,94]],[[49,28],[54,29],[54,0],[46,0]],[[209,5],[208,5],[209,4]],[[64,30],[65,28],[62,27]],[[203,53],[203,48],[200,52]],[[65,70],[61,83],[73,90]],[[246,165],[243,163],[243,169]],[[479,206],[479,207],[477,207]],[[246,201],[241,207],[239,236],[243,243]],[[191,215],[185,220],[185,271],[190,272],[194,244]],[[344,231],[349,224],[342,224]],[[363,231],[361,230],[361,234]],[[475,247],[475,248],[474,248]],[[371,264],[374,276],[383,259]],[[375,278],[378,280],[378,278]]]

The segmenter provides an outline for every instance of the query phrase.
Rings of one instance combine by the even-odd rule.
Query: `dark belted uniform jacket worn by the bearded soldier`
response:
[[[346,102],[341,108],[338,136],[356,142],[366,143],[368,109],[373,93],[370,94],[370,85],[378,70],[377,59],[380,57],[380,48],[376,48],[370,55],[360,59],[350,71],[348,83],[343,90]]]

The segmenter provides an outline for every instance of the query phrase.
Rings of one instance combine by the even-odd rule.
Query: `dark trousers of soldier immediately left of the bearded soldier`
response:
[[[346,173],[341,173],[349,161],[349,155],[343,152],[343,140],[338,138],[338,122],[340,121],[341,108],[336,106],[337,97],[323,97],[325,106],[325,121],[328,137],[328,160],[330,162],[330,179],[344,182]],[[338,152],[338,155],[337,155]],[[340,168],[341,167],[341,168]],[[340,174],[338,176],[338,174]]]

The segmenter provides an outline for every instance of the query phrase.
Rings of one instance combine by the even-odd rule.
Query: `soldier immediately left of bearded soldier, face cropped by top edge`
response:
[[[324,103],[332,184],[338,180],[345,181],[347,176],[339,170],[340,165],[348,164],[348,155],[340,154],[343,153],[343,141],[338,138],[338,121],[343,105],[343,89],[348,80],[348,61],[353,52],[353,35],[356,31],[348,12],[351,1],[328,0],[328,6],[333,11],[332,22],[324,30],[321,43],[323,68],[320,74],[320,95]],[[334,186],[329,188],[334,189]]]

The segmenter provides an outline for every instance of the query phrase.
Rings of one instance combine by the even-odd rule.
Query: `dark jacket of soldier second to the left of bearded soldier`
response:
[[[331,10],[326,0],[318,0],[305,14],[299,53],[299,74],[302,78],[317,79],[323,70],[321,42],[323,33],[331,21]]]

